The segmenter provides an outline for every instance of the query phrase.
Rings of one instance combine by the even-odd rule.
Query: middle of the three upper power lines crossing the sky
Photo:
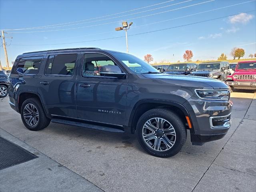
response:
[[[106,18],[106,19],[101,19],[101,20],[96,20],[96,21],[88,21],[88,22],[82,22],[82,23],[76,23],[76,24],[68,24],[68,25],[62,25],[62,26],[41,27],[41,28],[35,28],[35,29],[57,28],[57,27],[81,25],[81,24],[86,24],[86,23],[94,23],[94,22],[99,22],[99,21],[105,21],[105,20],[120,18],[120,17],[124,17],[124,16],[130,16],[130,15],[134,15],[134,14],[140,14],[140,13],[144,13],[144,12],[148,12],[148,11],[153,11],[153,10],[157,10],[157,9],[162,9],[162,8],[166,8],[166,7],[170,7],[170,6],[174,6],[174,5],[190,2],[190,1],[192,1],[192,0],[187,0],[187,1],[184,1],[184,2],[179,2],[179,3],[175,3],[175,4],[163,6],[163,7],[158,7],[158,8],[154,8],[154,9],[150,9],[150,10],[145,10],[145,11],[141,11],[141,12],[126,14],[126,15],[121,15],[121,16],[116,16],[116,17],[111,17],[111,18]]]

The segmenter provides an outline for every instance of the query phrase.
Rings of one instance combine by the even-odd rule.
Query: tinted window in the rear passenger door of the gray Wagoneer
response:
[[[50,55],[46,65],[46,75],[67,75],[74,74],[77,54]]]

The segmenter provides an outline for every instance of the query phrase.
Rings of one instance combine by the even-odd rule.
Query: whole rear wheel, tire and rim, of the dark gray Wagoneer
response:
[[[20,109],[23,124],[32,131],[46,128],[50,119],[46,117],[41,102],[36,98],[29,98],[22,103]]]

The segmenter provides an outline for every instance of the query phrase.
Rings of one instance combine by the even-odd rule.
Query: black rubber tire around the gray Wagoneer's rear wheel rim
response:
[[[28,119],[29,117],[27,117],[25,119],[24,114],[25,114],[25,116],[30,115],[28,113],[28,110],[26,110],[26,109],[24,110],[24,108],[26,106],[34,106],[36,109],[34,109],[33,111],[38,112],[38,115],[36,117],[33,114],[33,117],[37,119],[37,123],[34,126],[30,126],[26,122],[26,119]],[[37,98],[28,98],[27,100],[25,100],[22,103],[22,106],[20,108],[20,115],[21,115],[23,124],[26,126],[26,128],[28,128],[29,130],[32,130],[32,131],[38,131],[38,130],[46,128],[50,124],[50,121],[51,121],[49,118],[46,117],[46,115],[44,113],[44,109],[42,107],[42,104],[41,104],[40,100],[38,100]],[[27,120],[27,121],[29,121],[29,120]],[[35,122],[35,120],[34,120],[34,122]]]

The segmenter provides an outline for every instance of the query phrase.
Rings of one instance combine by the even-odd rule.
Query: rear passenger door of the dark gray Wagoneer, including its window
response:
[[[38,82],[38,93],[49,114],[76,118],[78,54],[50,54]]]

